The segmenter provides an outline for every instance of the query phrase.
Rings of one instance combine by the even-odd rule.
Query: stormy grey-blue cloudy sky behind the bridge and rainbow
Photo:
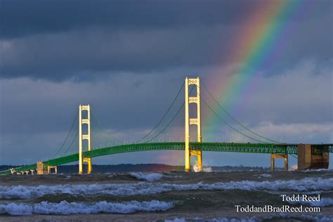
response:
[[[91,104],[112,137],[131,141],[158,122],[186,76],[200,76],[208,87],[214,83],[220,98],[223,84],[216,79],[237,74],[233,67],[246,62],[230,55],[247,46],[251,39],[243,30],[251,30],[249,19],[268,5],[0,0],[0,164],[51,157],[80,103]],[[288,16],[268,23],[280,25],[283,37],[266,46],[278,50],[261,55],[270,65],[247,64],[255,69],[256,84],[230,107],[240,122],[279,141],[333,143],[332,20],[333,1],[322,0],[302,1]],[[258,24],[267,22],[263,17]],[[183,152],[94,159],[99,164],[179,161]],[[267,155],[204,154],[207,165],[269,162]]]

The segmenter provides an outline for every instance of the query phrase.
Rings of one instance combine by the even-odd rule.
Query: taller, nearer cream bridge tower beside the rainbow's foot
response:
[[[197,86],[197,96],[190,96],[188,93],[188,87],[190,85]],[[197,103],[197,118],[190,118],[189,104]],[[200,79],[185,79],[185,171],[191,171],[190,168],[190,156],[197,156],[197,167],[202,170],[202,151],[191,150],[190,148],[190,125],[197,125],[197,142],[201,143],[201,113],[200,113]]]

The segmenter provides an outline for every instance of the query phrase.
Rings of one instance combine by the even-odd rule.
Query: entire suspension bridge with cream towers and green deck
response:
[[[181,100],[184,88],[185,100]],[[214,116],[208,126],[202,124],[203,110]],[[74,127],[77,122],[78,129]],[[79,174],[84,173],[86,163],[90,174],[93,157],[152,150],[184,151],[185,171],[191,170],[192,156],[196,157],[198,169],[202,169],[203,152],[266,153],[270,154],[271,169],[275,168],[276,158],[284,159],[285,169],[288,169],[288,157],[292,156],[298,159],[299,169],[318,169],[328,168],[329,153],[333,152],[333,144],[283,143],[252,131],[231,115],[207,86],[202,83],[200,87],[199,77],[185,79],[164,115],[144,136],[134,142],[121,143],[114,134],[103,126],[90,105],[79,105],[65,141],[52,158],[0,171],[0,174],[49,174],[52,169],[56,172],[57,166],[72,162],[79,162]],[[174,141],[179,135],[183,140]],[[96,144],[94,147],[92,141]]]

